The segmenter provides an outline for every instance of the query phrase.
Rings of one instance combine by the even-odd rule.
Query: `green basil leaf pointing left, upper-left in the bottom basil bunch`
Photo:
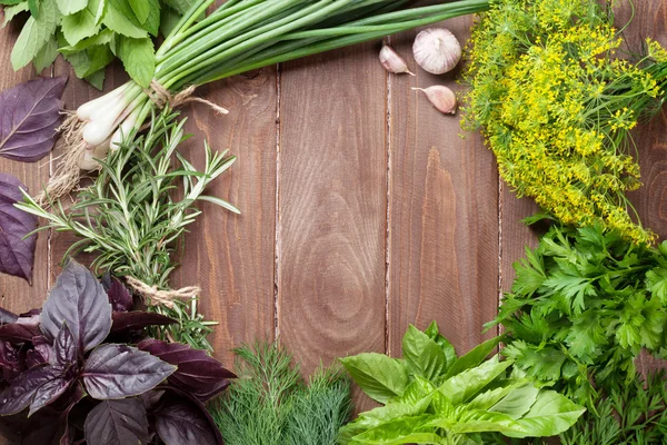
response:
[[[367,353],[340,358],[340,363],[366,395],[379,403],[401,396],[408,387],[408,372],[402,360]]]

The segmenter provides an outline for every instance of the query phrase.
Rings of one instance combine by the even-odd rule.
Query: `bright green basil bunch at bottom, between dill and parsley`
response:
[[[457,357],[434,322],[408,328],[402,358],[360,354],[342,358],[361,389],[385,406],[362,413],[340,432],[339,444],[488,444],[508,437],[565,432],[585,409],[541,389],[511,360],[495,355],[499,338]]]

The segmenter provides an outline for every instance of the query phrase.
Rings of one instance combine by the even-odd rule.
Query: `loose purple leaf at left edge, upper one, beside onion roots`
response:
[[[51,151],[64,83],[67,76],[39,78],[0,92],[0,156],[33,162]]]

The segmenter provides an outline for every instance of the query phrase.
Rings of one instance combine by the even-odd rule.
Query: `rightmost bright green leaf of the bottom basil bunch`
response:
[[[510,437],[555,436],[569,429],[585,411],[586,408],[555,390],[542,390],[530,411],[516,421],[526,433],[506,433],[506,435]]]

